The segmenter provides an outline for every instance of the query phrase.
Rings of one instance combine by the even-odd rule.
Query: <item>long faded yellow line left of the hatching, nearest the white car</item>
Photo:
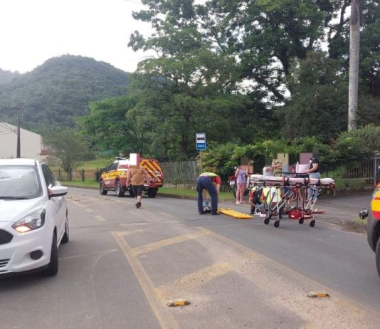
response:
[[[156,318],[159,321],[162,329],[179,329],[179,325],[176,323],[173,315],[171,315],[171,313],[169,313],[169,311],[166,309],[167,306],[162,305],[162,302],[160,302],[157,298],[155,287],[152,281],[150,280],[147,272],[144,270],[142,264],[132,253],[132,249],[123,237],[123,232],[112,231],[111,234],[117,241],[117,244],[119,244],[120,249],[122,249],[122,252],[124,253],[125,258],[127,258],[128,263],[130,263],[132,271],[134,272],[137,281],[139,281],[139,284],[142,287],[145,296],[147,296],[147,301],[151,306],[154,315],[156,315]]]

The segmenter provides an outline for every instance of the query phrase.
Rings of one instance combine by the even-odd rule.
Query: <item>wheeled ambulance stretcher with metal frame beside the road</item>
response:
[[[269,224],[275,217],[273,225],[278,227],[283,215],[283,209],[290,201],[295,202],[295,207],[288,209],[290,219],[297,220],[300,224],[305,219],[310,219],[310,226],[315,226],[313,209],[317,202],[320,189],[334,189],[335,182],[332,178],[310,178],[308,174],[295,172],[282,172],[283,176],[265,176],[251,174],[250,187],[262,190],[261,213],[265,214],[264,224]],[[310,189],[311,197],[307,199],[307,190]]]

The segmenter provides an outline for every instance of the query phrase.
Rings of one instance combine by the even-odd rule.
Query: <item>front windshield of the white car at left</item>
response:
[[[0,166],[0,199],[41,197],[41,182],[33,166]]]

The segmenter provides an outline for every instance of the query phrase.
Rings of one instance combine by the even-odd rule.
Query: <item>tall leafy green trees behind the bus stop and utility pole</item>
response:
[[[358,115],[365,125],[380,119],[380,9],[377,1],[361,2],[366,20]],[[123,132],[112,141],[105,131],[108,147],[186,159],[196,155],[195,132],[215,142],[310,135],[329,140],[347,126],[351,0],[142,4],[145,9],[133,17],[151,23],[154,33],[135,31],[129,45],[156,56],[139,63],[127,105],[110,107]],[[92,105],[86,132],[104,128],[92,119],[102,105]]]

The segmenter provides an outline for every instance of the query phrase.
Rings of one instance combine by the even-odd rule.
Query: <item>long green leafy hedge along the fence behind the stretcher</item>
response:
[[[250,145],[234,143],[211,144],[202,152],[201,163],[203,171],[220,174],[227,179],[234,173],[241,157],[254,161],[255,172],[263,167],[263,157],[273,158],[277,153],[299,154],[318,150],[322,172],[332,171],[345,164],[359,164],[373,156],[375,150],[380,150],[380,127],[366,125],[351,132],[342,132],[337,140],[330,144],[319,142],[315,137],[301,137],[295,140],[263,140]]]

